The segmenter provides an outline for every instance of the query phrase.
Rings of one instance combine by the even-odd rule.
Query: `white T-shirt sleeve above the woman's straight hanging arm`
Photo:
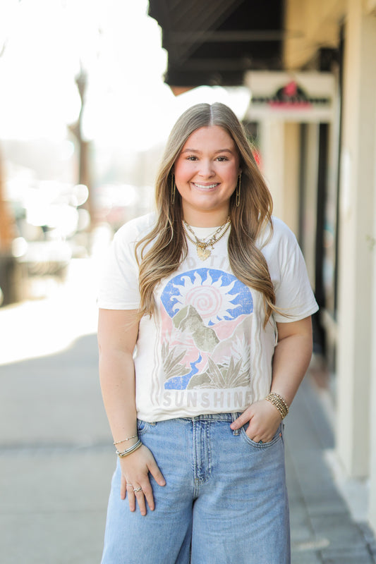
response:
[[[126,223],[114,236],[99,283],[97,305],[102,309],[138,309],[138,264],[135,259],[136,233]]]

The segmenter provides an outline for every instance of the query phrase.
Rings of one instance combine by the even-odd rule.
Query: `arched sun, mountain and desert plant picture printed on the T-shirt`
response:
[[[238,388],[250,379],[253,298],[233,274],[198,268],[162,290],[164,388]]]

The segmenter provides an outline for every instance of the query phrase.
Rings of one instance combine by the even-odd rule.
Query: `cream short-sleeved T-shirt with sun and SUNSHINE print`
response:
[[[154,214],[126,223],[114,237],[99,291],[103,309],[137,309],[135,242],[151,231]],[[202,233],[198,233],[200,238]],[[228,233],[202,260],[188,256],[155,290],[157,312],[140,321],[134,362],[138,417],[153,422],[207,413],[239,412],[267,396],[272,380],[276,321],[317,311],[296,238],[279,219],[265,229],[262,249],[277,307],[264,328],[262,295],[231,271]]]

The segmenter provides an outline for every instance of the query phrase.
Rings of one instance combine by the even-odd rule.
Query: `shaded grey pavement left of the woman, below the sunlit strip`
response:
[[[100,562],[114,448],[95,336],[0,367],[0,563]]]

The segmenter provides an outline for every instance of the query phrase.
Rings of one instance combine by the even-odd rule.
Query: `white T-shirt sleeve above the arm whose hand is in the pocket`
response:
[[[274,219],[273,227],[272,240],[262,252],[267,258],[279,309],[274,319],[281,323],[299,321],[317,312],[317,302],[295,235],[281,220]]]

